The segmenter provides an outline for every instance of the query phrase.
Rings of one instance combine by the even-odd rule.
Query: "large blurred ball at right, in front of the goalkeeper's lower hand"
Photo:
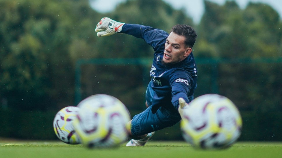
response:
[[[225,96],[199,96],[184,111],[180,123],[182,136],[196,148],[227,148],[240,137],[241,115],[235,104]]]

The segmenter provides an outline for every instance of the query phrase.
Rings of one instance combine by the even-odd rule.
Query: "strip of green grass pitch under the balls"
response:
[[[62,142],[1,141],[0,157],[3,158],[179,158],[179,157],[282,157],[282,142],[237,142],[228,149],[199,150],[185,142],[149,141],[145,146],[125,146],[113,149],[87,149],[81,145]]]

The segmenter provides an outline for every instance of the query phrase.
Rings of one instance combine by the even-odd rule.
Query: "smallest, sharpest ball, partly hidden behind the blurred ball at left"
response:
[[[57,137],[67,144],[80,144],[79,137],[75,133],[73,120],[76,119],[79,108],[67,106],[57,112],[53,121],[53,127]]]

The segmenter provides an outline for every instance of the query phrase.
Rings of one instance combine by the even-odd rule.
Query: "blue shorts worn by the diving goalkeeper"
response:
[[[151,82],[146,90],[146,101],[148,105],[152,104],[154,95],[154,91],[150,86]],[[153,131],[161,130],[175,125],[181,120],[178,111],[167,110],[164,106],[161,106],[157,112],[153,114],[151,108],[152,106],[149,106],[145,111],[133,117],[131,121],[131,134],[133,136],[141,136]]]

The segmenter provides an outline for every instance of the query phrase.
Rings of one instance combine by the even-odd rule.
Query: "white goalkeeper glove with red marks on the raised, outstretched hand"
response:
[[[125,23],[117,22],[110,18],[102,18],[100,22],[98,22],[95,31],[97,32],[97,36],[110,36],[117,32],[120,32],[123,25]]]

